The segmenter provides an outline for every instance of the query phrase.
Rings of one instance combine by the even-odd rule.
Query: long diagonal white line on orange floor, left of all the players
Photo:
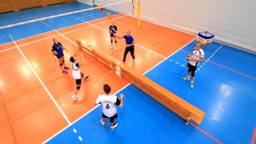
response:
[[[39,78],[37,72],[32,68],[31,64],[29,63],[29,61],[26,59],[26,56],[22,53],[22,51],[20,50],[20,47],[17,45],[17,43],[15,42],[15,40],[13,39],[13,37],[9,34],[9,37],[12,39],[12,41],[15,43],[16,48],[19,50],[20,55],[22,55],[23,59],[26,60],[26,64],[29,66],[29,68],[32,70],[32,72],[34,73],[34,75],[38,78],[38,81],[40,82],[40,84],[42,84],[42,86],[44,87],[44,90],[47,92],[47,94],[49,95],[50,99],[55,103],[55,106],[59,109],[59,111],[61,112],[62,116],[66,119],[67,124],[71,124],[71,122],[68,120],[67,116],[65,115],[65,113],[61,110],[61,107],[57,104],[57,102],[55,101],[55,99],[53,98],[53,96],[49,93],[49,90],[46,88],[46,86],[44,85],[44,83],[42,82],[42,80]]]

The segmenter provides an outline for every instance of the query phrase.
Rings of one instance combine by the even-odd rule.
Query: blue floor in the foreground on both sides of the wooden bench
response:
[[[208,61],[205,65],[201,63],[198,66],[202,67],[196,72],[195,88],[190,89],[189,82],[182,79],[187,73],[185,57],[188,54],[184,51],[191,51],[194,43],[189,43],[154,67],[146,76],[206,112],[203,122],[198,126],[218,141],[232,144],[250,143],[256,124],[256,81]],[[255,55],[226,45],[219,48],[221,45],[207,45],[204,48],[206,59],[217,49],[210,59],[216,63],[221,62],[218,60],[220,55],[234,53],[236,59],[232,62],[236,64],[222,65],[233,66],[237,71],[244,70],[247,75],[256,73],[256,67],[253,67],[256,63]],[[225,58],[229,59],[228,56]],[[243,66],[240,59],[250,60],[251,63]],[[247,72],[246,67],[250,67],[253,72]],[[79,142],[78,136],[82,136],[82,143],[217,143],[191,124],[185,125],[183,119],[133,85],[129,85],[120,93],[125,94],[125,106],[118,109],[119,126],[116,130],[108,130],[109,125],[102,129],[99,122],[102,107],[97,107],[47,143]],[[76,135],[73,134],[73,128],[78,130]]]

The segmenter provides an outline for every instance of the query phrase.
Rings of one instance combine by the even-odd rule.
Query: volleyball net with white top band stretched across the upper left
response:
[[[105,2],[105,1],[104,1]],[[95,1],[99,4],[100,1]],[[76,26],[91,20],[107,17],[110,13],[131,14],[131,1],[120,1],[117,3],[101,3],[104,11],[99,11],[96,6],[87,9],[55,14],[43,18],[33,17],[33,20],[26,20],[11,25],[0,26],[0,44],[10,43],[27,37],[33,37],[42,33],[49,33],[68,26]]]

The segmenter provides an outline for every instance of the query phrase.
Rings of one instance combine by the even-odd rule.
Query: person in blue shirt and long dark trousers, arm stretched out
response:
[[[114,34],[114,35],[115,35],[115,37],[118,37],[119,39],[125,38],[126,48],[125,48],[123,62],[125,63],[126,55],[128,54],[128,52],[131,53],[132,59],[135,60],[135,55],[134,55],[134,44],[135,43],[134,43],[133,37],[131,37],[131,32],[127,31],[126,35],[124,37],[119,37],[116,34]]]

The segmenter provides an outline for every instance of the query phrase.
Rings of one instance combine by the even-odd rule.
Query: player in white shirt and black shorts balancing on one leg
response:
[[[72,65],[72,76],[76,80],[76,84],[77,84],[77,89],[74,90],[72,100],[79,101],[79,98],[76,95],[78,94],[81,83],[82,83],[81,78],[83,78],[85,80],[85,79],[89,78],[89,75],[84,77],[84,73],[80,72],[80,65],[78,62],[76,62],[75,56],[71,56],[70,61],[71,61],[71,65]]]

